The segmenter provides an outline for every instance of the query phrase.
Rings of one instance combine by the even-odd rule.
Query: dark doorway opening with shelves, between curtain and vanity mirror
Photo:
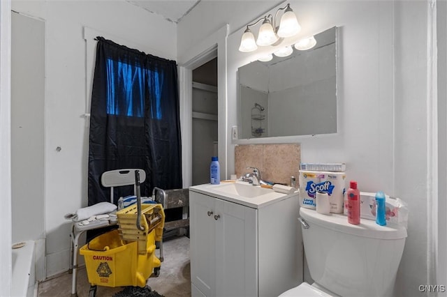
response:
[[[218,151],[217,57],[192,72],[192,185],[210,183]]]

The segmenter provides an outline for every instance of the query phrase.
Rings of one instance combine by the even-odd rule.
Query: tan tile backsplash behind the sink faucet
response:
[[[263,181],[289,184],[295,176],[298,186],[300,144],[243,144],[235,146],[235,174],[237,178],[250,172],[247,167],[261,170]]]

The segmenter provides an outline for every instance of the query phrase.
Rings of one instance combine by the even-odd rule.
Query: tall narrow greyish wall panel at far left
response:
[[[11,204],[13,243],[35,242],[38,280],[45,278],[45,26],[12,13]],[[33,222],[29,224],[29,222]],[[34,266],[33,266],[34,267]],[[32,282],[34,284],[34,281]]]

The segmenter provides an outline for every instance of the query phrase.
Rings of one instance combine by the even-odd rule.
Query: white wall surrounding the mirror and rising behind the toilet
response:
[[[206,1],[200,2],[195,10],[206,15],[206,22],[191,13],[179,22],[177,30],[179,52],[189,50],[192,43],[188,40],[193,42],[207,36],[203,27],[214,28],[220,22],[228,22],[230,32],[235,32],[227,39],[227,130],[237,124],[237,68],[261,55],[261,52],[251,55],[237,51],[244,31],[241,24],[263,15],[265,8],[258,6],[258,2],[244,2],[251,15],[238,14],[242,4],[234,1],[213,2],[215,8]],[[427,235],[430,224],[427,205],[434,198],[428,198],[431,192],[427,178],[432,167],[427,153],[433,136],[427,126],[431,100],[427,96],[429,3],[288,2],[298,15],[302,36],[339,27],[339,132],[236,142],[231,141],[228,133],[228,174],[234,172],[235,144],[300,142],[303,162],[346,162],[348,178],[358,181],[361,190],[383,190],[409,204],[409,237],[397,277],[397,295],[424,295],[418,285],[427,284],[432,273],[432,264],[427,261],[431,253],[427,248],[431,240]],[[225,5],[228,7],[223,8]],[[230,9],[232,14],[219,16]],[[254,12],[258,13],[253,15]]]

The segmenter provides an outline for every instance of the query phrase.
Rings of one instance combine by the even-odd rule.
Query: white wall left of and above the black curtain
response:
[[[12,9],[45,21],[45,226],[50,276],[69,265],[71,221],[64,214],[87,206],[88,126],[83,115],[89,107],[83,28],[176,59],[176,25],[126,1],[14,1]]]

